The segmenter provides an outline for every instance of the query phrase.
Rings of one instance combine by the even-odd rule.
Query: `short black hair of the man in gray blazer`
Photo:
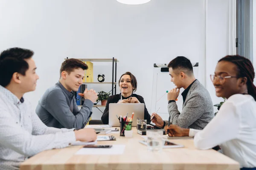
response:
[[[183,56],[178,56],[169,62],[168,68],[172,70],[182,70],[186,74],[193,74],[193,66],[189,59]]]

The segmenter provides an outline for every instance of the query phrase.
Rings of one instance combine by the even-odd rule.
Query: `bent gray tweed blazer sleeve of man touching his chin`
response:
[[[170,122],[173,125],[178,125],[183,128],[192,125],[192,123],[199,119],[204,113],[204,105],[203,102],[200,101],[202,101],[201,96],[192,96],[181,113],[178,111],[176,102],[169,103],[168,112],[171,115]]]

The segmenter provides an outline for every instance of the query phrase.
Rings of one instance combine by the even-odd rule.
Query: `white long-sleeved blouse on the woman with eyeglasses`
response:
[[[198,149],[221,145],[226,156],[240,167],[256,167],[256,102],[250,95],[235,94],[221,106],[204,130],[189,130]]]

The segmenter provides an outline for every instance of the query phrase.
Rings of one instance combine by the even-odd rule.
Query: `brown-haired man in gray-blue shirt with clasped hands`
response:
[[[49,127],[81,129],[92,114],[93,103],[98,98],[91,89],[84,91],[84,104],[79,110],[74,91],[83,83],[87,65],[79,59],[66,59],[61,64],[60,79],[52,88],[47,89],[38,102],[36,113]]]

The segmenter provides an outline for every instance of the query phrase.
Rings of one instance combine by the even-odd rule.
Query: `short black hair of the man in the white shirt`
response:
[[[14,73],[25,76],[29,69],[29,64],[25,59],[29,59],[34,52],[24,48],[9,48],[0,54],[0,85],[6,87],[11,82]]]

